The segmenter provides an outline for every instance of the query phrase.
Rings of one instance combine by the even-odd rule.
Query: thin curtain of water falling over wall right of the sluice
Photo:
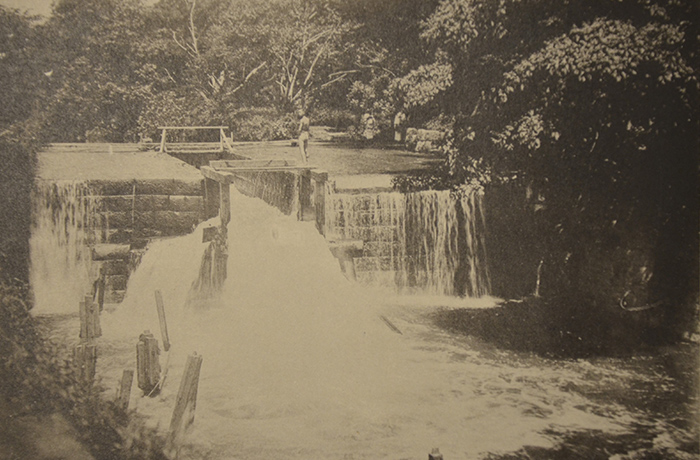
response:
[[[483,191],[332,194],[331,239],[361,239],[358,279],[399,292],[481,297],[490,292]]]

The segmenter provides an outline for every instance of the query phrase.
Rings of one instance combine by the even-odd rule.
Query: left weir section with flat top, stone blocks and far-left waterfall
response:
[[[55,302],[62,290],[70,295],[60,301],[75,303],[102,283],[105,301],[120,302],[148,242],[190,233],[204,219],[203,197],[196,168],[136,145],[56,144],[40,152],[36,301]]]

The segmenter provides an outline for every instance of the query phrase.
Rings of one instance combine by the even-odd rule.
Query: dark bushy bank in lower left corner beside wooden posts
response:
[[[164,459],[164,442],[135,413],[101,398],[46,340],[29,314],[26,290],[0,284],[0,397],[12,416],[60,412],[98,459]]]

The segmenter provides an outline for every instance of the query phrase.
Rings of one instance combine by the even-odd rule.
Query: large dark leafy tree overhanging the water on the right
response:
[[[697,13],[444,0],[424,29],[454,67],[445,179],[477,164],[529,188],[549,295],[615,312],[636,296],[671,338],[698,292]]]

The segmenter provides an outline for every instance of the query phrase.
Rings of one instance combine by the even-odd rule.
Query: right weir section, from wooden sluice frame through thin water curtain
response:
[[[483,191],[336,194],[328,174],[289,160],[212,161],[203,167],[207,216],[221,217],[203,271],[223,267],[229,186],[298,220],[314,220],[343,272],[399,293],[481,297],[490,293]],[[217,255],[218,254],[218,255]],[[223,269],[203,287],[217,286]]]

